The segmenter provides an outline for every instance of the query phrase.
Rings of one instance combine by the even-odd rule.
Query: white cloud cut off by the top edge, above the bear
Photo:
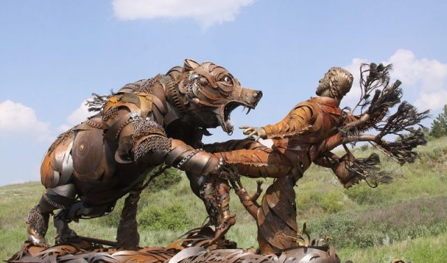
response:
[[[192,18],[207,29],[213,24],[235,20],[244,6],[256,0],[114,0],[120,20]]]

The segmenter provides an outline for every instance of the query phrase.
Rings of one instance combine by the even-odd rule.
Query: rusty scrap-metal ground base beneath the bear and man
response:
[[[234,242],[226,240],[210,245],[214,236],[212,227],[194,229],[185,235],[166,248],[154,246],[134,250],[105,248],[87,241],[43,248],[27,241],[7,262],[340,262],[335,249],[328,246],[295,246],[278,254],[258,254],[253,250],[237,249]],[[96,242],[101,243],[101,240]]]

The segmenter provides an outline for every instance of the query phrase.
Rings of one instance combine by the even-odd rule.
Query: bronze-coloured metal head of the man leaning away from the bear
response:
[[[351,89],[353,76],[348,70],[332,67],[319,81],[316,95],[341,100]]]

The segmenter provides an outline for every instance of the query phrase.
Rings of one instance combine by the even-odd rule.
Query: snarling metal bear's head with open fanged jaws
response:
[[[167,75],[175,82],[171,102],[203,128],[221,126],[232,133],[231,112],[238,106],[254,109],[262,97],[261,91],[242,87],[228,70],[210,61],[185,59],[183,67],[172,68]]]

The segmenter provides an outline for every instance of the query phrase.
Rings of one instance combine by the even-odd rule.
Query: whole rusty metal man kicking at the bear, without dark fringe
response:
[[[343,68],[330,68],[316,89],[318,97],[299,103],[279,123],[262,128],[242,126],[244,134],[272,139],[272,149],[257,142],[233,141],[235,151],[218,153],[240,174],[274,177],[276,181],[263,197],[262,205],[246,202],[258,223],[258,241],[263,253],[277,253],[293,246],[298,232],[293,186],[312,163],[330,167],[346,188],[360,177],[347,170],[350,158],[338,158],[330,150],[339,144],[339,127],[358,118],[344,114],[340,100],[349,92],[353,76]],[[240,146],[238,144],[243,144]],[[213,151],[219,149],[215,144]],[[222,149],[228,149],[221,147]]]

